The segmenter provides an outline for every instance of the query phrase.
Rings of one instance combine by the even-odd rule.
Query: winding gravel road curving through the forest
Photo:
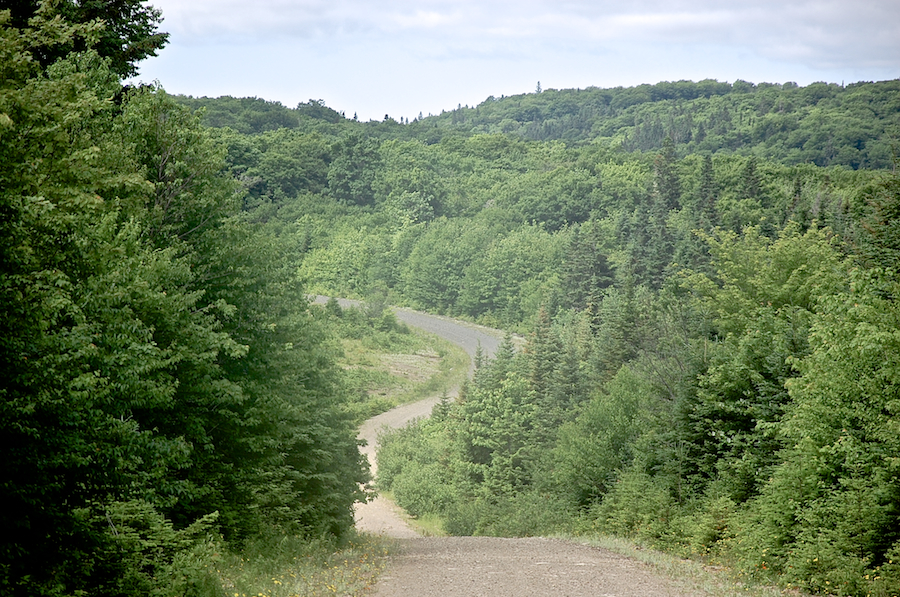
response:
[[[324,302],[325,297],[316,297]],[[342,300],[342,306],[359,303]],[[492,356],[503,332],[446,317],[394,309],[408,325],[461,346],[470,357],[479,344]],[[458,389],[457,389],[458,390]],[[453,396],[456,392],[453,392]],[[378,432],[427,417],[440,396],[407,404],[366,421],[360,439],[375,470]],[[384,498],[360,504],[360,531],[394,538],[398,553],[375,587],[376,597],[688,597],[705,595],[675,586],[650,566],[616,553],[558,539],[421,537]]]

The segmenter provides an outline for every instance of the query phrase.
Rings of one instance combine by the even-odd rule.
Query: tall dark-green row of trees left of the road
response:
[[[158,11],[27,4],[0,11],[0,592],[220,595],[222,549],[352,528],[336,347],[227,148],[123,87]]]

